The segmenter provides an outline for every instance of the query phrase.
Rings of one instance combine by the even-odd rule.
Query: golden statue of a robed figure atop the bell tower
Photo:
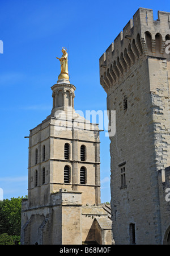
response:
[[[58,76],[58,80],[59,79],[69,80],[67,49],[65,47],[62,47],[61,51],[63,53],[62,57],[60,59],[58,57],[56,57],[60,61],[60,65],[61,65],[61,73]]]

